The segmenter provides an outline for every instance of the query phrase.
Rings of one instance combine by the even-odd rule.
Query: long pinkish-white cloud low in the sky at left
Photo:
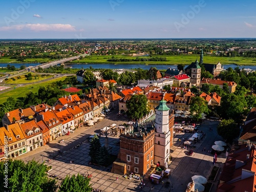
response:
[[[25,24],[25,25],[13,25],[9,27],[0,27],[0,31],[60,31],[69,32],[76,31],[75,27],[70,24]]]

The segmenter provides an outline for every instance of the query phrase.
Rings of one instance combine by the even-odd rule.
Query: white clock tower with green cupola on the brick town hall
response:
[[[162,166],[169,161],[170,154],[169,110],[165,100],[156,107],[154,163]]]

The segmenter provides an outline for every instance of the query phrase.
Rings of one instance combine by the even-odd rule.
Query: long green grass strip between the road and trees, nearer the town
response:
[[[44,87],[44,86],[47,86],[48,84],[50,84],[51,82],[59,81],[59,80],[62,81],[64,79],[66,79],[66,77],[59,77],[59,78],[49,80],[49,81],[46,81],[46,82],[41,82],[41,83],[32,84],[32,85],[29,84],[29,85],[24,86],[24,87],[16,87],[16,89],[8,91],[4,94],[0,93],[0,95],[1,95],[0,104],[3,104],[8,97],[13,97],[13,98],[18,100],[21,97],[25,97],[26,93],[28,93],[28,92],[37,93],[39,87]]]

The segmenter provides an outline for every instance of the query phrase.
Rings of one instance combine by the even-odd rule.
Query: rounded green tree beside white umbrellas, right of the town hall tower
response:
[[[191,98],[189,109],[195,120],[202,118],[202,113],[208,113],[207,102],[199,96]]]

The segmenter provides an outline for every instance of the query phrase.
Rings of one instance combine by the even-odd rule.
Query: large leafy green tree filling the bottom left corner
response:
[[[0,179],[4,181],[5,162],[0,162]],[[8,162],[8,188],[0,186],[0,191],[38,191],[54,192],[56,181],[47,177],[47,165],[32,160],[25,163],[22,160]]]

